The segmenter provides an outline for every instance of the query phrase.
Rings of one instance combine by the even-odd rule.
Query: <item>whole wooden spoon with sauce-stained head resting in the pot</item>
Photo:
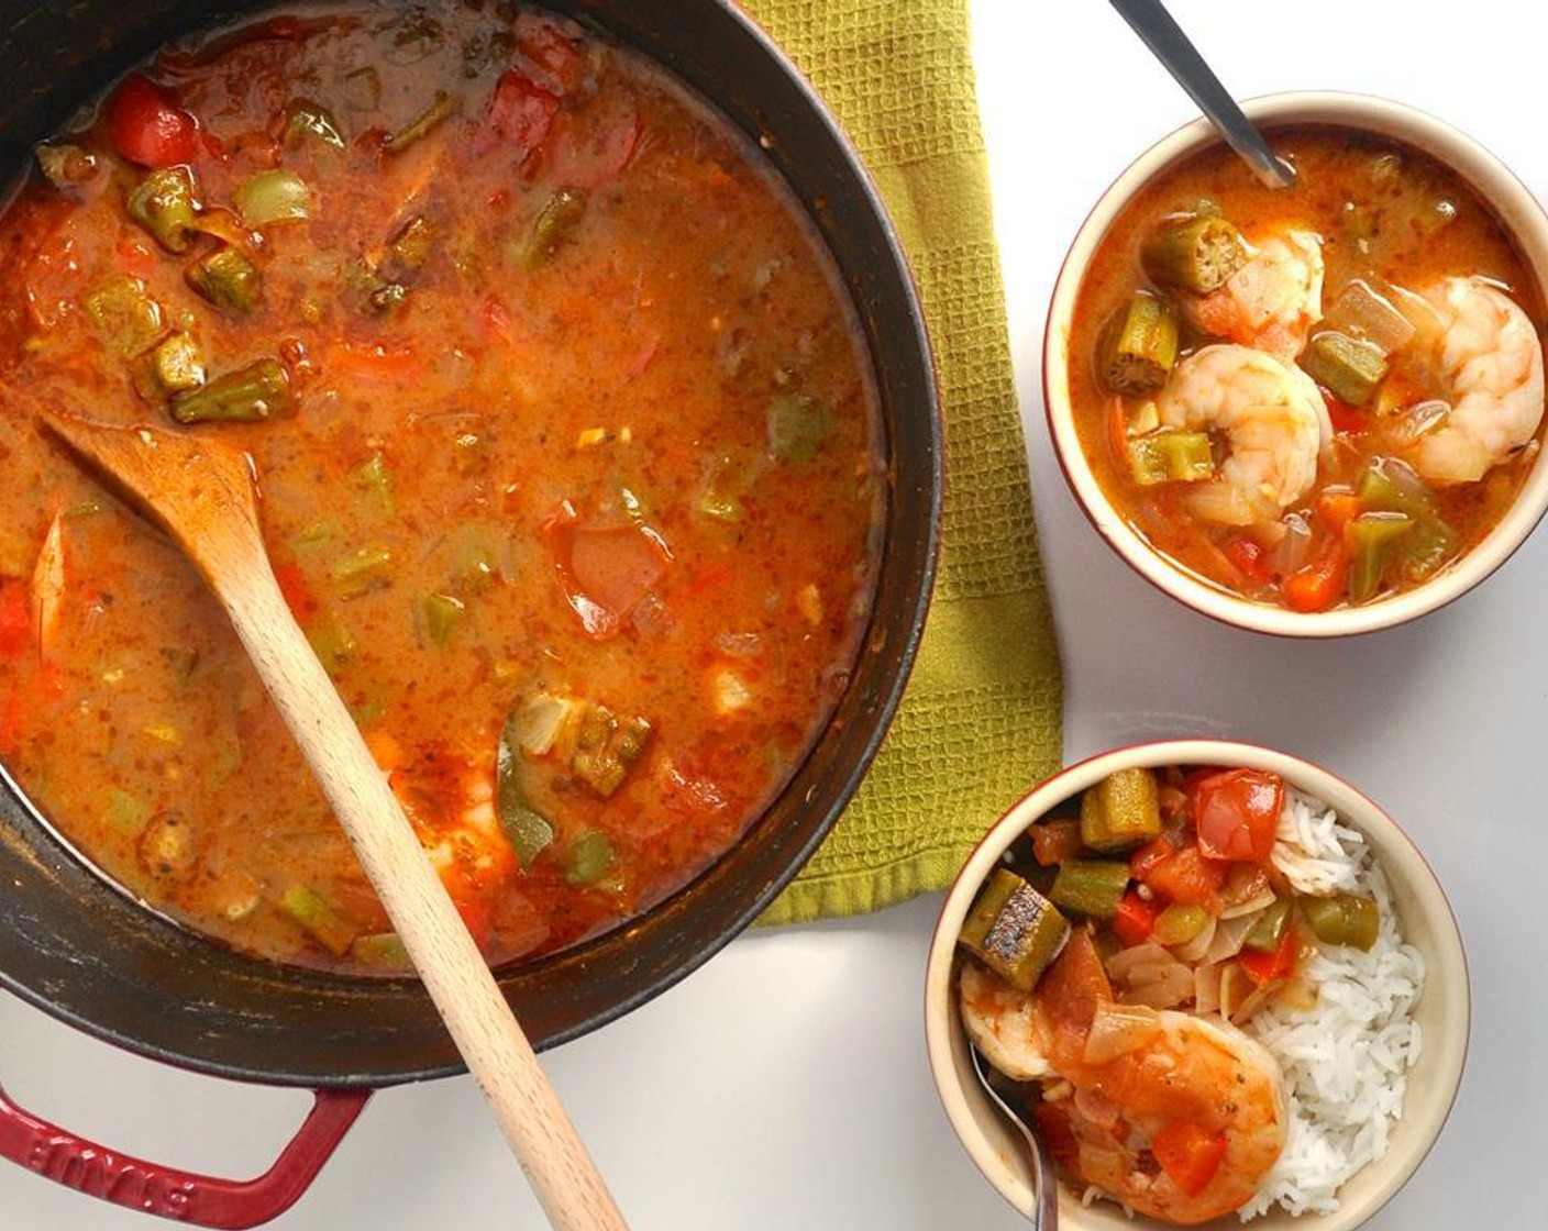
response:
[[[252,460],[229,444],[63,415],[42,421],[166,530],[209,582],[311,763],[548,1220],[625,1228],[387,777],[280,596]]]

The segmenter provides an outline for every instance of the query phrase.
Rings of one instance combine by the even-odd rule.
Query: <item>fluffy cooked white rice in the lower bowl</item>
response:
[[[1243,1222],[1274,1205],[1291,1214],[1336,1209],[1339,1186],[1385,1154],[1420,1056],[1413,1002],[1424,958],[1398,934],[1387,878],[1364,836],[1289,791],[1272,859],[1300,892],[1368,893],[1381,929],[1368,952],[1320,946],[1305,968],[1314,1006],[1268,1008],[1246,1027],[1285,1070],[1289,1126],[1279,1161],[1240,1209]]]

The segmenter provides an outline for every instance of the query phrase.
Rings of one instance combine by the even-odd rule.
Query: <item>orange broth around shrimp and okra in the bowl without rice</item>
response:
[[[1102,334],[1136,290],[1176,297],[1159,288],[1141,260],[1150,234],[1170,215],[1217,211],[1249,243],[1288,229],[1314,232],[1325,262],[1322,310],[1330,311],[1359,280],[1402,302],[1404,294],[1447,276],[1475,276],[1503,288],[1543,328],[1542,291],[1511,237],[1485,201],[1429,155],[1389,138],[1347,129],[1305,125],[1279,129],[1274,147],[1297,172],[1291,189],[1262,186],[1226,147],[1211,149],[1147,184],[1113,223],[1082,282],[1071,333],[1070,396],[1084,452],[1105,495],[1130,526],[1172,564],[1243,598],[1302,610],[1381,598],[1421,584],[1477,543],[1498,522],[1525,483],[1542,444],[1533,440],[1478,482],[1420,483],[1401,471],[1443,526],[1444,539],[1423,562],[1404,556],[1401,543],[1367,574],[1367,593],[1351,593],[1354,568],[1347,520],[1356,505],[1337,499],[1361,489],[1372,463],[1402,463],[1412,437],[1426,430],[1409,410],[1441,399],[1449,389],[1423,359],[1390,356],[1382,386],[1362,406],[1348,406],[1325,386],[1333,440],[1322,452],[1314,485],[1283,509],[1279,520],[1221,525],[1194,516],[1189,482],[1141,485],[1132,472],[1128,443],[1146,430],[1147,396],[1119,396],[1099,375]],[[1412,299],[1409,300],[1412,302]],[[1328,321],[1311,327],[1314,339]],[[1183,316],[1180,355],[1221,341]],[[1302,353],[1305,362],[1305,353]],[[1224,443],[1212,441],[1218,472]],[[1367,505],[1368,506],[1368,505]],[[1410,536],[1409,542],[1416,542]],[[1427,540],[1427,547],[1435,545]],[[1300,578],[1294,578],[1300,573]],[[1320,593],[1297,590],[1314,576],[1331,581]],[[1313,602],[1314,599],[1314,602]]]

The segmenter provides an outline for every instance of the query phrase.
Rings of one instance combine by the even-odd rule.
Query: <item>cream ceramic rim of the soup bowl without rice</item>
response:
[[[1536,276],[1539,300],[1548,303],[1548,212],[1515,172],[1468,133],[1407,104],[1361,93],[1265,94],[1245,101],[1243,110],[1268,129],[1300,124],[1364,129],[1437,158],[1489,203]],[[1220,144],[1220,136],[1206,119],[1190,121],[1163,136],[1102,192],[1060,265],[1043,328],[1042,389],[1054,455],[1076,503],[1098,534],[1141,578],[1184,605],[1232,627],[1293,638],[1350,636],[1390,629],[1438,610],[1498,570],[1548,513],[1548,458],[1539,455],[1515,503],[1498,525],[1435,578],[1361,607],[1310,613],[1252,602],[1167,561],[1113,509],[1085,461],[1068,410],[1068,364],[1070,322],[1087,263],[1119,211],[1142,184],[1215,144]]]

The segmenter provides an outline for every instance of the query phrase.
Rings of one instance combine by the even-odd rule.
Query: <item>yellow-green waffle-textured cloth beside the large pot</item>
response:
[[[968,0],[746,0],[827,99],[913,266],[946,421],[946,533],[902,706],[833,833],[763,915],[879,910],[946,886],[1060,757],[1060,675],[1033,523],[969,56]]]

